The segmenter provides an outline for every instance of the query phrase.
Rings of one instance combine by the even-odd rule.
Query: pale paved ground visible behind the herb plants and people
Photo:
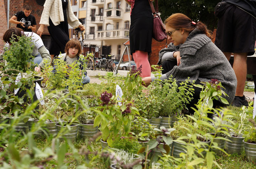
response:
[[[128,70],[118,70],[118,74],[119,74],[119,75],[126,76],[127,73],[128,73]],[[106,75],[107,75],[107,71],[101,71],[101,70],[87,70],[87,74],[88,74],[88,76],[97,76],[97,75],[106,76]],[[151,76],[153,76],[152,73],[151,73]],[[90,77],[90,78],[91,78],[90,83],[97,83],[97,84],[100,84],[100,83],[101,83],[101,80],[99,80],[99,79],[96,78],[96,77]],[[252,100],[252,98],[254,98],[254,92],[244,92],[244,95],[245,95],[246,97],[249,97],[250,100]]]

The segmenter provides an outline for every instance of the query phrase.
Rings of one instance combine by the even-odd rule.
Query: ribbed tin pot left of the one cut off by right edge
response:
[[[242,153],[244,149],[244,135],[239,134],[238,136],[235,136],[235,133],[229,133],[230,136],[226,137],[230,141],[226,141],[225,150],[229,154],[238,153],[239,155]]]

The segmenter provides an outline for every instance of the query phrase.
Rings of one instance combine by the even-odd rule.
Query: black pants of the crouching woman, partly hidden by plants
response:
[[[177,65],[176,60],[175,61],[170,61],[170,60],[164,61],[162,63],[162,68],[164,69],[164,70],[162,70],[162,74],[169,72],[175,65]],[[181,84],[180,84],[181,81],[176,81],[176,83],[177,83],[178,87],[181,86]],[[200,83],[199,80],[197,80],[194,84],[202,85],[202,83]],[[195,86],[193,86],[193,89],[194,89],[193,99],[190,101],[189,104],[186,105],[188,108],[188,112],[190,114],[194,113],[194,110],[191,107],[197,109],[195,105],[197,104],[198,100],[200,99],[200,93],[202,91],[201,88],[195,87]],[[213,108],[216,108],[216,107],[224,107],[224,104],[220,103],[220,101],[218,101],[218,100],[213,100]],[[208,115],[208,116],[211,116],[211,115]]]

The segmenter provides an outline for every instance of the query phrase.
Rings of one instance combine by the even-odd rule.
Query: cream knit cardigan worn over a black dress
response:
[[[66,14],[71,27],[77,28],[82,24],[73,13],[70,0],[68,0]],[[62,0],[46,0],[44,2],[44,10],[39,24],[49,26],[49,17],[55,26],[64,21]]]

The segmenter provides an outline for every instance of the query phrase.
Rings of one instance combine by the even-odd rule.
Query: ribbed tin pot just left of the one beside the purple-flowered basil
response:
[[[60,130],[62,130],[62,128],[64,128],[65,130],[63,133],[61,133],[60,141],[64,141],[66,139],[66,140],[70,140],[71,142],[74,142],[76,141],[79,124],[78,123],[71,124],[68,128],[65,126],[67,123],[68,122],[55,123],[55,125],[57,126],[58,133],[60,132]]]

